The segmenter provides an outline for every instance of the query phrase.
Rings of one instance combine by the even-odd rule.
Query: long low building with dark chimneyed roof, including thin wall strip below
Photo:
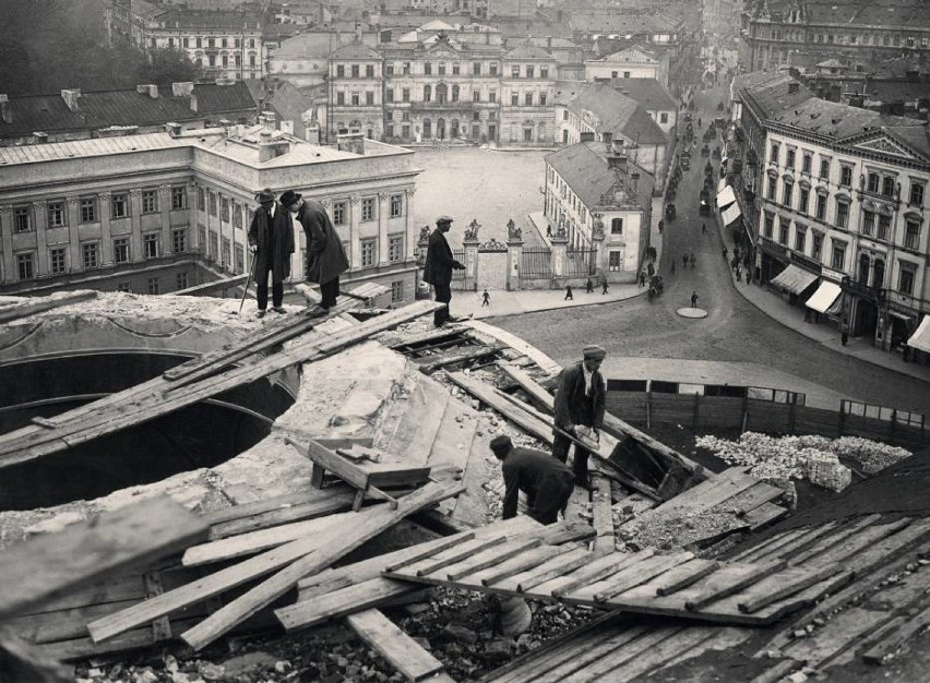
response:
[[[122,91],[63,89],[53,95],[0,95],[0,146],[112,137],[247,123],[255,100],[245,83],[138,85]]]

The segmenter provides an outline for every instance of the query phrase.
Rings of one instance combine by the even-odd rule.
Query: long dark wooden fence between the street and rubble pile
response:
[[[747,390],[750,387],[746,387]],[[923,416],[885,409],[877,414],[857,410],[855,402],[843,402],[839,410],[812,408],[803,394],[789,394],[778,402],[744,396],[708,396],[700,393],[616,391],[607,392],[607,410],[646,428],[680,424],[694,432],[734,430],[770,434],[820,434],[862,436],[915,451],[930,445]]]

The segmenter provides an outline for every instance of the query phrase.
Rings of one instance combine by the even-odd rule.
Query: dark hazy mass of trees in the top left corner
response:
[[[107,45],[103,0],[0,0],[0,92],[9,95],[195,81],[180,50]]]

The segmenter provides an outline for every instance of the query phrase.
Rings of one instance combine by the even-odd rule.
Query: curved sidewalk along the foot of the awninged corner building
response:
[[[717,225],[717,233],[720,237],[722,247],[726,245],[729,255],[732,255],[735,244],[731,232],[724,227],[720,220],[720,212],[716,208],[714,209],[714,219]],[[729,265],[725,265],[723,261],[724,259],[720,256],[719,267],[726,267],[729,271],[734,289],[768,317],[782,323],[786,327],[790,327],[798,334],[818,344],[822,344],[837,354],[851,356],[873,366],[880,366],[886,370],[930,382],[930,367],[906,363],[899,356],[878,349],[866,339],[850,337],[846,346],[843,346],[839,340],[839,329],[834,323],[827,321],[825,315],[821,315],[820,323],[806,323],[802,308],[789,305],[776,292],[756,283],[752,283],[751,285],[748,285],[744,280],[738,283],[732,269]]]

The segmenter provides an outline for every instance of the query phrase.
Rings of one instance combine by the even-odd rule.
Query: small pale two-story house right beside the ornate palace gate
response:
[[[592,259],[608,281],[633,281],[649,243],[655,180],[622,147],[593,137],[546,155],[546,218],[570,254]]]

